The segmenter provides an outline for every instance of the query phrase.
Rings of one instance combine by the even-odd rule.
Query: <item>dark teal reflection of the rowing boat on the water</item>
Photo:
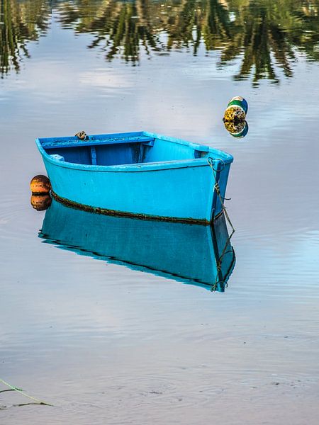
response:
[[[223,292],[235,253],[223,215],[213,227],[100,215],[56,200],[39,237],[61,249]]]

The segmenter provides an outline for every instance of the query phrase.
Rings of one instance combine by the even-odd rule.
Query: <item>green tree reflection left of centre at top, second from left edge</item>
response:
[[[101,47],[106,52],[106,59],[111,60],[121,54],[126,61],[138,61],[140,47],[147,54],[150,50],[162,50],[157,30],[152,27],[150,10],[152,2],[137,1],[99,1],[94,3],[92,11],[87,1],[75,4],[62,4],[61,20],[63,25],[76,22],[77,33],[93,33],[94,40],[89,48]],[[90,16],[88,18],[87,16]]]

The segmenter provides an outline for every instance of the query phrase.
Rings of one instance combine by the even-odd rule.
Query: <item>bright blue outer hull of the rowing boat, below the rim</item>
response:
[[[229,155],[216,174],[207,162],[210,152],[201,159],[124,166],[78,166],[40,152],[53,194],[64,203],[111,215],[204,225],[223,211],[214,186],[218,179],[225,196],[233,161]]]

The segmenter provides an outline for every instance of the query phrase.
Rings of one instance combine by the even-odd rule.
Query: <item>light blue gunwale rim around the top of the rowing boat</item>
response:
[[[129,136],[130,135],[130,136]],[[220,151],[219,149],[214,149],[206,145],[199,145],[193,142],[187,142],[186,140],[176,139],[174,137],[157,135],[150,132],[127,132],[127,133],[113,133],[106,135],[90,135],[90,137],[100,137],[104,139],[111,139],[113,137],[138,137],[138,136],[147,136],[154,137],[155,139],[165,140],[167,142],[177,143],[178,145],[186,145],[194,149],[194,151],[199,152],[211,152],[211,154],[224,162],[224,164],[231,164],[233,162],[233,156]],[[189,168],[192,166],[208,166],[207,158],[191,158],[191,159],[175,159],[172,161],[160,161],[160,162],[146,162],[146,163],[136,163],[136,164],[117,164],[117,165],[92,165],[92,164],[78,164],[74,162],[61,161],[60,159],[55,159],[50,154],[48,154],[43,147],[42,143],[46,140],[77,140],[76,137],[50,137],[50,138],[37,138],[35,143],[42,154],[43,158],[51,164],[55,164],[62,168],[67,169],[77,169],[81,171],[103,171],[103,172],[114,172],[114,171],[124,171],[124,172],[136,172],[136,171],[160,171],[165,169],[182,169]],[[132,140],[128,140],[128,143],[132,143]],[[96,145],[101,145],[99,142]],[[80,146],[80,144],[79,144]],[[94,146],[94,144],[92,144]],[[67,148],[67,147],[65,147]],[[71,149],[71,148],[70,148]]]

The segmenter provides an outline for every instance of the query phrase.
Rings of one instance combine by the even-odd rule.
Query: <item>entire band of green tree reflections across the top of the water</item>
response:
[[[198,47],[220,51],[218,67],[240,62],[235,79],[279,82],[293,75],[300,52],[319,59],[319,0],[0,0],[1,72],[19,69],[26,42],[47,28],[48,5],[59,13],[62,28],[91,33],[89,48],[106,60],[121,57],[137,64],[147,55]],[[279,71],[281,69],[281,72]]]

